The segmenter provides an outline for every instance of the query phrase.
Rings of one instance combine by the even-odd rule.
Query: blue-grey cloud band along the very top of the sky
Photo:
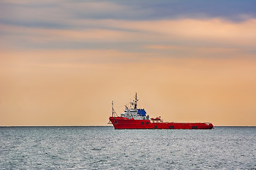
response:
[[[256,18],[255,1],[0,1],[0,23],[33,28],[75,28],[70,21],[157,21]]]

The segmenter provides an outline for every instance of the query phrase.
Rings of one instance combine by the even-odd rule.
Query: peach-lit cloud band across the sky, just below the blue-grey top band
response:
[[[94,49],[166,56],[255,55],[256,19],[74,20],[75,29],[0,25],[2,49]],[[183,51],[183,52],[182,52]],[[191,53],[192,52],[192,53]]]

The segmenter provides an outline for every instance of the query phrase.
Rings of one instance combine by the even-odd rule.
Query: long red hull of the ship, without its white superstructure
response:
[[[151,123],[150,120],[134,120],[110,117],[114,129],[213,129],[211,123]]]

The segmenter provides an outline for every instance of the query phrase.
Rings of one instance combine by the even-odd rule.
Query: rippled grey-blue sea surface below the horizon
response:
[[[0,169],[256,169],[256,127],[1,127]]]

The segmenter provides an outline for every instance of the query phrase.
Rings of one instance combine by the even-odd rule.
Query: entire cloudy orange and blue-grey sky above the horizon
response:
[[[256,125],[256,1],[0,0],[0,126]]]

